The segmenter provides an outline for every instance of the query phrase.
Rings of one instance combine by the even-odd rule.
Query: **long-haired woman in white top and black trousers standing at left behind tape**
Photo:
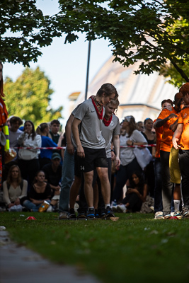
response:
[[[32,185],[35,173],[40,170],[39,154],[41,147],[40,134],[36,134],[33,122],[25,121],[23,133],[18,137],[18,144],[25,148],[18,151],[18,166],[21,169],[22,178],[28,180],[28,185]]]

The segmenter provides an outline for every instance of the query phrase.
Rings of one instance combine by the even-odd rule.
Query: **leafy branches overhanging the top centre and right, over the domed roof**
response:
[[[59,0],[59,30],[66,41],[86,33],[86,40],[108,38],[115,61],[129,66],[141,60],[135,74],[160,71],[171,65],[188,80],[189,5],[186,0]],[[103,4],[106,4],[103,5]]]

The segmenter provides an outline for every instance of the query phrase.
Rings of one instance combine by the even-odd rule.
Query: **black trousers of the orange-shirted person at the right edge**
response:
[[[181,169],[181,190],[184,207],[189,209],[189,150],[179,150],[179,166]]]

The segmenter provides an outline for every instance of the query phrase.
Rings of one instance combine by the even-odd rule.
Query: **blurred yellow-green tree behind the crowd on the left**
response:
[[[57,110],[50,108],[53,91],[49,79],[39,68],[25,68],[15,82],[6,78],[4,93],[9,116],[16,115],[23,120],[31,120],[35,125],[62,117],[62,107]]]

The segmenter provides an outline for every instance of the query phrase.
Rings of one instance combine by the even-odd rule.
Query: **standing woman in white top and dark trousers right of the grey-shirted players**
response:
[[[122,200],[122,187],[131,178],[134,171],[142,173],[142,168],[134,156],[133,147],[147,144],[143,134],[137,130],[137,125],[133,116],[127,116],[122,121],[122,135],[120,136],[120,169],[116,174],[116,184],[113,191],[113,200]]]

